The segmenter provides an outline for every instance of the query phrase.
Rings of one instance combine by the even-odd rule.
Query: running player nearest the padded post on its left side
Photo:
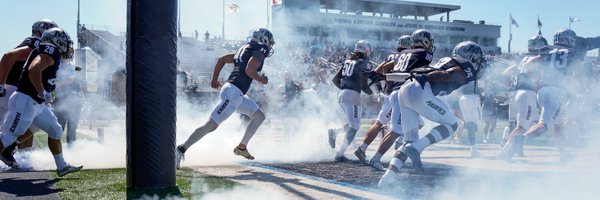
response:
[[[33,124],[48,133],[48,148],[54,156],[59,177],[79,171],[83,166],[71,166],[62,155],[62,128],[50,106],[56,74],[63,58],[72,58],[73,41],[67,32],[51,28],[42,34],[42,43],[28,56],[17,90],[9,99],[2,133],[0,151],[23,135]]]

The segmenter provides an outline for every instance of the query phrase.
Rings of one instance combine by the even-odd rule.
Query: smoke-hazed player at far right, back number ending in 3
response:
[[[581,73],[583,55],[575,51],[577,35],[571,29],[561,29],[554,35],[554,45],[544,46],[540,55],[532,58],[524,65],[529,76],[539,84],[537,102],[542,107],[540,120],[525,133],[517,132],[511,135],[506,150],[501,153],[504,158],[510,158],[523,145],[523,139],[533,139],[548,131],[548,126],[555,126],[555,142],[560,151],[560,159],[568,159],[562,144],[561,109],[568,101],[568,91],[577,91],[578,80],[574,75]],[[575,83],[575,84],[574,84]]]

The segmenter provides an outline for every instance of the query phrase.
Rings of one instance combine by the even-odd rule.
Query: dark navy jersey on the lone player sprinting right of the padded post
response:
[[[258,67],[258,71],[260,72],[262,71],[264,58],[266,58],[267,55],[269,55],[269,47],[263,44],[248,42],[240,47],[233,57],[234,67],[227,82],[235,85],[243,94],[246,94],[248,89],[250,89],[250,84],[252,84],[252,78],[246,74],[248,61],[250,61],[250,58],[253,56],[254,59],[259,59],[260,66]]]

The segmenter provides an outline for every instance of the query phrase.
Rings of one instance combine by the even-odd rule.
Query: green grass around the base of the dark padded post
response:
[[[125,169],[83,170],[63,178],[56,178],[55,188],[61,199],[126,199]],[[231,189],[237,183],[225,178],[208,176],[191,169],[177,171],[177,186],[181,196],[194,199],[206,192]],[[163,196],[160,194],[159,196]],[[129,194],[137,196],[138,193]]]

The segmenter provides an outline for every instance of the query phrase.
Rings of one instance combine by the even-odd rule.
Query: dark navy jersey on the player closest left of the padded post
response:
[[[21,73],[19,84],[17,85],[17,91],[29,95],[38,103],[44,102],[44,99],[38,97],[38,92],[37,90],[35,90],[35,87],[33,87],[31,79],[29,79],[29,66],[31,65],[33,59],[35,59],[38,55],[41,54],[49,55],[54,60],[54,64],[46,67],[46,69],[42,71],[42,84],[44,85],[44,90],[46,92],[54,91],[54,84],[56,83],[56,72],[58,71],[58,67],[60,66],[61,57],[56,46],[46,43],[41,43],[37,48],[31,51],[29,57],[27,57],[25,65],[22,68],[23,72]]]

